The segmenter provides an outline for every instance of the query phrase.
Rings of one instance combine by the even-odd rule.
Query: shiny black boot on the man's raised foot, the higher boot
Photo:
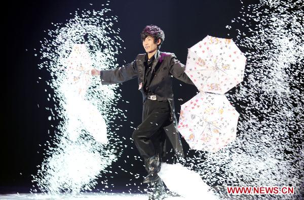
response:
[[[148,171],[148,175],[144,178],[143,183],[156,182],[160,179],[157,173],[161,169],[161,161],[159,155],[144,159],[145,168]]]

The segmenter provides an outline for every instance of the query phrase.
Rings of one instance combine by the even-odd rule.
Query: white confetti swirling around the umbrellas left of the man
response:
[[[51,113],[49,120],[59,124],[55,127],[55,136],[45,144],[45,158],[37,166],[37,174],[33,175],[32,182],[36,186],[33,185],[32,192],[90,191],[101,176],[107,188],[107,178],[113,173],[110,165],[124,151],[122,138],[116,134],[120,125],[114,123],[116,118],[126,118],[122,110],[116,109],[121,97],[118,85],[101,85],[100,79],[92,76],[81,104],[76,104],[75,98],[68,98],[70,87],[65,86],[68,79],[66,61],[74,44],[85,44],[92,67],[107,69],[117,66],[115,56],[120,52],[122,39],[119,29],[112,28],[117,17],[108,13],[110,10],[106,8],[101,11],[78,10],[66,23],[53,24],[54,29],[46,31],[48,36],[41,41],[42,63],[39,68],[50,73],[47,84],[53,89],[48,101],[53,101],[54,106],[46,109]],[[79,118],[71,117],[72,110],[86,108],[95,109],[95,113],[103,116],[108,143],[95,140],[86,129],[83,119],[90,119],[90,112],[82,112],[86,116]]]

